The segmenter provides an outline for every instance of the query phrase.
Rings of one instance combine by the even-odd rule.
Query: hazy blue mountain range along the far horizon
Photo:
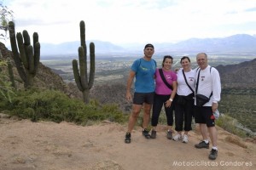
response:
[[[98,40],[86,41],[87,46],[90,42],[95,43],[96,54],[142,53],[144,47],[144,44],[119,46]],[[79,41],[61,44],[42,43],[41,55],[78,55],[79,45]],[[155,53],[166,54],[196,54],[202,51],[208,54],[256,54],[256,37],[237,34],[224,38],[191,38],[177,43],[154,43],[154,47]]]

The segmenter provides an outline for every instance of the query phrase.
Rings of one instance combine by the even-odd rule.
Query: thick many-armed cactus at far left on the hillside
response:
[[[33,86],[33,79],[38,71],[40,43],[38,42],[37,32],[33,33],[33,46],[31,45],[28,32],[24,30],[22,34],[23,35],[18,32],[17,35],[15,35],[15,23],[9,21],[9,37],[12,53],[14,54],[15,65],[20,78],[24,82],[24,87],[30,88]],[[16,38],[20,53],[18,52]]]

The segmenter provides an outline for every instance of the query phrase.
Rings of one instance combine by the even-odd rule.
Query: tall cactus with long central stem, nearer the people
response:
[[[90,42],[90,76],[88,80],[84,20],[80,21],[80,41],[81,46],[79,47],[79,66],[78,60],[73,59],[73,76],[79,90],[83,93],[84,103],[88,104],[90,88],[92,88],[95,76],[95,45],[93,42]]]

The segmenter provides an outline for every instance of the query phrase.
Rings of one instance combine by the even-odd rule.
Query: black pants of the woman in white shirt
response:
[[[175,98],[179,96],[176,94]],[[189,131],[192,130],[191,122],[194,113],[194,102],[193,100],[185,100],[183,105],[175,103],[175,130]],[[183,128],[184,125],[184,128]]]

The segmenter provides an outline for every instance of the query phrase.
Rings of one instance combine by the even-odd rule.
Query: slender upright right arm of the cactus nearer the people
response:
[[[89,77],[89,89],[92,88],[95,77],[95,45],[90,42],[90,77]]]

